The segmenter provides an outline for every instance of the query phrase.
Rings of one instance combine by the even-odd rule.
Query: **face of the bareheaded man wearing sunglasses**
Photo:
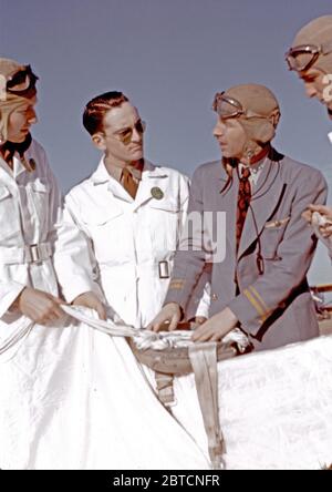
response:
[[[143,131],[136,107],[124,102],[104,116],[103,132],[93,136],[94,143],[115,165],[126,165],[143,157]]]

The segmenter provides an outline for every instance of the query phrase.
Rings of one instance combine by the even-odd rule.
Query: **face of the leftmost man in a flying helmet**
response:
[[[10,142],[24,142],[30,126],[37,123],[34,106],[37,104],[37,98],[27,100],[22,106],[10,113],[8,119],[7,140]]]

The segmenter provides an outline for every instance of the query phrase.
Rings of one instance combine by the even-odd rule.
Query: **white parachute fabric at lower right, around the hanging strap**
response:
[[[173,412],[207,445],[193,376],[175,379]],[[228,470],[319,470],[332,463],[332,336],[218,363]]]

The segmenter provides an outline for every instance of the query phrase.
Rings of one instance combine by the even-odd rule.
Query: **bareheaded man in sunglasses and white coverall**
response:
[[[83,124],[104,155],[96,171],[68,194],[66,225],[85,234],[110,306],[126,324],[141,328],[157,314],[167,291],[186,219],[188,178],[143,157],[145,124],[121,92],[90,101]],[[65,249],[65,236],[61,240]],[[74,250],[70,260],[82,265]],[[55,256],[55,264],[70,299],[65,258],[58,264]],[[208,314],[208,287],[200,295],[207,278],[204,274],[187,308],[198,322]]]

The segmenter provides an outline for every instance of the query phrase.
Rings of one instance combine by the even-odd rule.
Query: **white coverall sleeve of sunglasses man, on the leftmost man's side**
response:
[[[58,223],[54,268],[63,297],[72,303],[81,294],[104,296],[95,281],[94,255],[89,237],[80,227],[80,208],[71,194],[65,198]]]

